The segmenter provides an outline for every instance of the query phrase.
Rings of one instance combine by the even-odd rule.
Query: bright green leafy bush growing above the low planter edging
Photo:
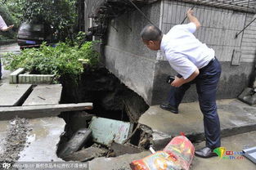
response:
[[[83,64],[79,59],[84,59],[90,66],[98,63],[99,55],[93,51],[93,44],[86,42],[79,48],[61,42],[56,47],[43,44],[39,48],[25,49],[19,55],[9,54],[4,57],[6,69],[25,68],[38,74],[55,74],[57,79],[65,75],[79,78],[79,74],[83,73]]]

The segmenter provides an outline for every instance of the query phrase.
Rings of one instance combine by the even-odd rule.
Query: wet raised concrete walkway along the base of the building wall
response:
[[[217,102],[222,136],[251,132],[256,129],[256,107],[236,99]],[[150,109],[139,119],[139,123],[152,128],[156,134],[166,134],[167,137],[184,132],[192,141],[204,140],[203,114],[200,112],[198,102],[181,104],[179,114],[162,110],[159,105],[150,106]],[[157,135],[153,134],[153,136]],[[166,145],[168,141],[164,141],[165,138],[162,137],[162,140],[155,138],[154,140],[157,141],[155,145]]]

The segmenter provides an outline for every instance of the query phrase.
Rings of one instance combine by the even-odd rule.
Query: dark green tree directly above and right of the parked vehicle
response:
[[[52,25],[57,38],[65,40],[72,35],[77,14],[75,0],[34,0],[23,3],[23,20]]]

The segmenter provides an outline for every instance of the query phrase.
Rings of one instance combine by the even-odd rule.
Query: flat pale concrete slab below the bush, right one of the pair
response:
[[[54,105],[61,101],[61,84],[38,85],[34,87],[23,105]]]

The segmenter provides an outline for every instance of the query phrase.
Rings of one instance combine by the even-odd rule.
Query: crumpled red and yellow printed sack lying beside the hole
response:
[[[132,170],[188,170],[194,158],[195,147],[186,136],[174,137],[163,151],[150,154],[130,163]]]

